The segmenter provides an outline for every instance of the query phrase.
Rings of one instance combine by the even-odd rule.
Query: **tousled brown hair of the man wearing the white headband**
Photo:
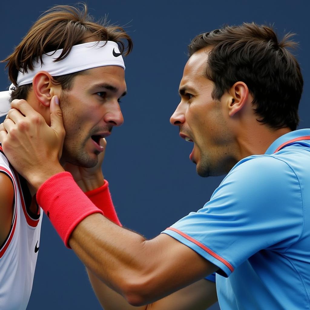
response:
[[[9,77],[16,86],[12,92],[11,100],[26,99],[32,84],[17,87],[18,72],[28,72],[33,69],[33,61],[40,59],[42,55],[58,49],[63,49],[55,61],[64,59],[73,45],[84,43],[86,39],[93,41],[117,42],[120,52],[128,55],[132,50],[130,36],[118,26],[107,25],[105,20],[94,22],[92,16],[87,14],[86,4],[82,7],[58,5],[44,12],[29,29],[26,36],[3,62],[7,62]],[[124,43],[124,40],[127,44]],[[53,77],[63,90],[69,90],[73,78],[83,71]]]

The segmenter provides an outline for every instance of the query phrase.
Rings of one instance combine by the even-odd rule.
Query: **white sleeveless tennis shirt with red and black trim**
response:
[[[10,166],[2,152],[0,172],[14,185],[11,231],[0,249],[0,309],[25,310],[37,263],[43,212],[31,213],[31,195],[26,181]]]

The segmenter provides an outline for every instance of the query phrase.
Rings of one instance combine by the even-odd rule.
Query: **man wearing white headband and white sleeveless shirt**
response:
[[[50,105],[60,98],[66,131],[60,161],[88,195],[94,194],[94,179],[100,184],[109,206],[99,204],[102,210],[91,212],[104,212],[120,225],[100,167],[103,138],[123,122],[118,103],[126,94],[122,54],[131,51],[132,41],[120,27],[92,22],[86,10],[57,6],[33,24],[5,60],[12,85],[0,92],[0,113],[7,114],[11,100],[25,99],[51,124]],[[0,308],[23,310],[33,284],[42,210],[33,188],[1,146],[0,151]]]

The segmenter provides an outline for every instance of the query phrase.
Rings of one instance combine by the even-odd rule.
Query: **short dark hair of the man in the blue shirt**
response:
[[[271,27],[243,23],[199,34],[188,51],[191,56],[202,48],[212,48],[205,74],[215,84],[214,99],[219,100],[235,82],[245,82],[253,95],[259,122],[295,130],[303,77],[287,49],[297,46],[290,40],[293,35],[288,33],[279,42]]]

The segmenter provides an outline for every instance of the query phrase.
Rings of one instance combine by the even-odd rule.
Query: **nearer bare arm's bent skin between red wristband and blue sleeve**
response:
[[[78,224],[69,244],[92,272],[135,306],[161,299],[218,269],[166,234],[145,240],[99,214]]]

